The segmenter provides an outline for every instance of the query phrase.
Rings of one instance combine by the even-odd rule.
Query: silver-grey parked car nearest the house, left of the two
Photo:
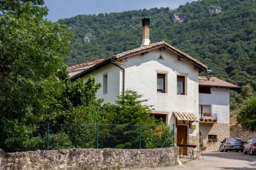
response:
[[[244,142],[239,137],[227,137],[221,141],[220,152],[236,151],[243,152]]]

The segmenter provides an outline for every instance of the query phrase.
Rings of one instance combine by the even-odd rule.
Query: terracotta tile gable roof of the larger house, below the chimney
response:
[[[84,74],[86,74],[86,72],[89,71],[90,69],[95,69],[97,66],[102,65],[103,63],[106,63],[107,61],[111,62],[112,59],[113,60],[122,60],[124,58],[132,57],[137,54],[150,52],[150,51],[156,50],[157,48],[161,48],[161,47],[167,48],[169,51],[172,51],[179,57],[184,58],[185,60],[197,65],[197,67],[201,70],[207,69],[207,66],[204,65],[203,63],[201,63],[200,61],[194,59],[193,57],[189,56],[186,53],[183,53],[182,51],[178,50],[174,46],[172,46],[164,41],[160,41],[160,42],[152,43],[150,45],[144,45],[144,46],[141,46],[138,48],[134,48],[133,50],[129,50],[129,51],[126,51],[126,52],[123,52],[120,54],[116,54],[116,55],[113,55],[106,59],[99,59],[99,60],[95,60],[92,62],[87,62],[87,63],[70,66],[70,67],[68,67],[69,70],[73,70],[74,68],[79,68],[79,69],[81,68],[81,70],[76,71],[75,74],[74,74],[74,72],[72,75],[70,74],[70,78],[71,78],[71,80],[75,80],[75,79],[83,76]],[[90,65],[90,67],[87,67],[88,65]],[[84,66],[86,66],[86,67],[84,67]]]

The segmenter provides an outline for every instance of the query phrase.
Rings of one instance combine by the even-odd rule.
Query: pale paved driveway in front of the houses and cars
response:
[[[184,161],[184,158],[182,159]],[[149,168],[145,168],[149,169]],[[190,160],[180,166],[158,167],[154,170],[176,169],[249,169],[256,170],[256,156],[244,155],[242,152],[204,152],[204,160]]]

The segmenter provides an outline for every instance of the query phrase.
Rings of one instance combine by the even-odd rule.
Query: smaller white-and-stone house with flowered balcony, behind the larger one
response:
[[[220,142],[229,137],[229,90],[236,85],[217,79],[199,77],[200,144],[217,151]]]

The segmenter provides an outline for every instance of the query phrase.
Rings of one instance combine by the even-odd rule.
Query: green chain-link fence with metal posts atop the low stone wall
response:
[[[48,123],[37,125],[31,133],[32,136],[27,142],[31,142],[32,147],[20,150],[13,143],[5,142],[4,145],[8,152],[70,148],[166,148],[173,147],[174,145],[173,130],[173,125],[156,124],[105,125]]]

